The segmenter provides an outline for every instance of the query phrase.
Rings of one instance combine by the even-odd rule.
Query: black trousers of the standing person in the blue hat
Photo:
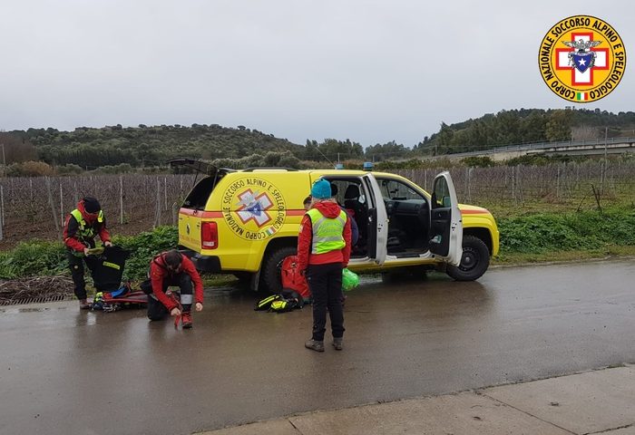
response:
[[[342,308],[342,264],[309,265],[308,286],[313,295],[313,340],[321,342],[327,331],[327,308],[331,319],[333,338],[344,335],[344,310]]]

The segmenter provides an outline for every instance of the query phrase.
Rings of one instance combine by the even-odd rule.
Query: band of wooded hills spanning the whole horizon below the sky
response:
[[[589,110],[520,109],[488,113],[454,124],[441,123],[439,131],[412,147],[390,140],[366,149],[354,140],[307,140],[304,145],[244,126],[218,124],[190,126],[78,127],[0,132],[2,163],[19,165],[29,160],[55,168],[58,173],[98,169],[107,173],[165,165],[167,160],[210,160],[230,168],[287,166],[306,168],[325,162],[407,160],[431,155],[487,150],[497,146],[537,141],[581,140],[635,136],[635,113],[614,114]],[[44,170],[42,165],[30,168]],[[21,167],[14,166],[13,175]],[[29,170],[31,170],[29,169]],[[5,174],[11,167],[5,168]],[[23,170],[24,172],[24,170]],[[46,175],[46,174],[36,174]]]

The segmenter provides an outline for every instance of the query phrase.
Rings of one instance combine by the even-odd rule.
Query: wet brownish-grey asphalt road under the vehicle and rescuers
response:
[[[0,309],[0,434],[186,434],[298,411],[635,362],[635,261],[498,268],[349,294],[346,348],[304,349],[311,313],[206,294],[194,329],[76,304]]]

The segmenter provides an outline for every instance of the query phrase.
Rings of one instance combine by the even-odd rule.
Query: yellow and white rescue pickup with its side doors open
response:
[[[251,287],[278,292],[279,265],[296,254],[303,200],[317,179],[359,228],[349,269],[387,272],[435,266],[459,281],[478,279],[499,249],[485,208],[459,204],[448,172],[432,193],[387,172],[341,169],[222,169],[201,160],[171,160],[203,177],[179,211],[179,248],[201,272],[234,274]]]

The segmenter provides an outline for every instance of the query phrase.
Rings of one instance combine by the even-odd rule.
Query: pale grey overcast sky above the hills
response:
[[[2,0],[0,129],[215,123],[412,147],[442,121],[568,105],[538,49],[574,14],[635,53],[628,1]],[[627,63],[578,107],[634,111],[633,97]]]

